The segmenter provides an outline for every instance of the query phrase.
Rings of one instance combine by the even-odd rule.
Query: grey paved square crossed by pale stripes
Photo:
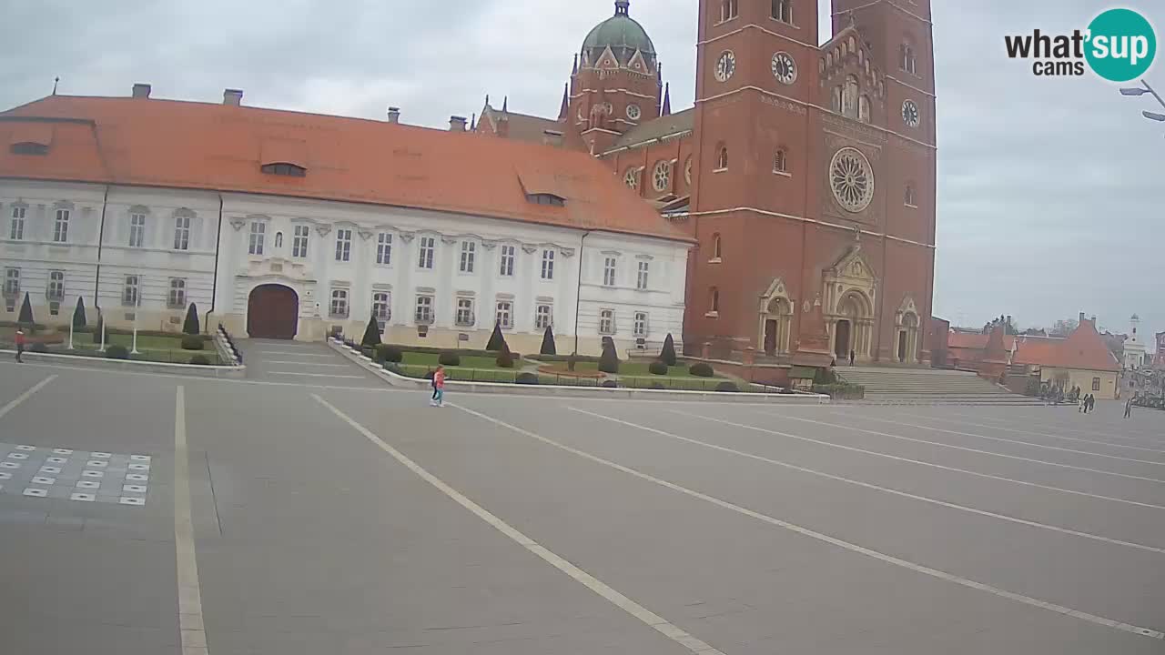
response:
[[[14,653],[1165,649],[1165,413],[0,373]]]

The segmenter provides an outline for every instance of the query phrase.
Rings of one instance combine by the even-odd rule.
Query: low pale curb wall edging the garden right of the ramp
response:
[[[333,339],[327,340],[327,346],[340,353],[345,358],[359,364],[366,371],[381,378],[393,387],[428,390],[428,380],[405,378],[373,362],[372,359],[359,354],[343,343]],[[770,402],[772,404],[828,404],[829,396],[819,394],[761,394],[742,392],[689,392],[670,389],[627,389],[606,387],[566,387],[552,385],[513,385],[508,382],[464,382],[449,380],[445,382],[450,389],[463,393],[475,394],[508,394],[538,396],[567,396],[567,397],[599,397],[599,399],[636,399],[636,400],[702,400],[708,402]]]

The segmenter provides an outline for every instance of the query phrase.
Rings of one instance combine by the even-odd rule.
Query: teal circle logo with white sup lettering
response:
[[[1129,82],[1149,70],[1157,56],[1157,34],[1132,9],[1109,9],[1088,26],[1085,57],[1109,82]]]

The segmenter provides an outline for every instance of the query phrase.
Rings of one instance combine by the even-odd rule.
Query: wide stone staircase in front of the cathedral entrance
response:
[[[846,382],[866,387],[870,402],[904,404],[1040,404],[974,373],[941,368],[839,366]]]

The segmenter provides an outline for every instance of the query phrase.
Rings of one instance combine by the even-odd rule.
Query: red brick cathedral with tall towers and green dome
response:
[[[934,281],[930,0],[699,0],[696,103],[616,0],[557,118],[483,135],[581,149],[693,240],[684,345],[719,359],[926,364]]]

